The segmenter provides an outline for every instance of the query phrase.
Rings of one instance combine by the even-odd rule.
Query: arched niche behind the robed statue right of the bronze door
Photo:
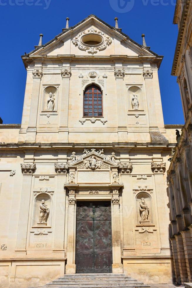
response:
[[[142,202],[142,198],[144,199],[145,203],[144,206],[147,205],[149,208],[149,211],[147,212],[148,209],[144,211],[146,214],[148,213],[148,217],[145,220],[142,220],[142,212],[140,211],[140,202]],[[146,192],[139,192],[136,196],[136,215],[137,215],[137,224],[153,224],[153,208],[152,208],[152,202],[151,202],[151,196],[146,193]]]

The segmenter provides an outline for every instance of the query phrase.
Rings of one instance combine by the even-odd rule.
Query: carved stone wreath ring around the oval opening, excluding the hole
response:
[[[86,44],[82,41],[82,38],[85,35],[86,36],[88,36],[88,35],[100,36],[102,41],[96,45]],[[94,55],[95,53],[97,53],[97,51],[105,50],[105,48],[112,43],[112,38],[107,36],[105,33],[101,32],[101,31],[97,31],[96,29],[91,28],[87,32],[85,32],[85,31],[80,32],[75,38],[73,38],[72,42],[75,46],[78,46],[78,48],[80,50],[82,50],[82,51],[87,50],[88,53]]]

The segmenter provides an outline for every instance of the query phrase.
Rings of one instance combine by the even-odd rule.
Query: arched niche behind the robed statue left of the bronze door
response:
[[[40,219],[40,204],[41,204],[41,201],[42,200],[45,200],[45,204],[47,205],[46,207],[50,210],[49,212],[49,216],[48,216],[48,219],[47,219],[47,225],[46,224],[39,224],[39,219]],[[33,212],[33,226],[48,226],[50,227],[51,226],[51,212],[52,212],[52,209],[51,209],[51,198],[48,194],[45,194],[45,193],[41,193],[39,195],[37,195],[37,197],[35,198],[35,201],[34,201],[34,212]]]

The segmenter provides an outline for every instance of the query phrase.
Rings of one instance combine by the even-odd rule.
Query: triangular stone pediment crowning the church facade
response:
[[[157,56],[156,53],[133,41],[122,31],[95,15],[90,15],[75,26],[63,30],[48,43],[28,53],[28,56]],[[101,45],[91,47],[91,41],[88,38],[85,43],[90,43],[90,45],[84,45],[82,37],[90,34],[94,34],[97,41],[101,39]],[[24,58],[23,56],[23,60]]]

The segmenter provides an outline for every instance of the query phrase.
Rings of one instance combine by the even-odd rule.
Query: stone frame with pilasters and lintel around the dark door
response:
[[[65,274],[75,274],[75,246],[76,246],[76,209],[79,201],[111,201],[111,225],[112,225],[112,273],[122,274],[123,265],[121,263],[121,231],[120,231],[120,211],[119,211],[119,189],[123,185],[70,185],[68,189],[68,233],[67,233],[67,264]],[[91,188],[93,194],[85,194],[87,188]],[[109,190],[105,194],[102,190]],[[96,194],[95,194],[96,193]]]

